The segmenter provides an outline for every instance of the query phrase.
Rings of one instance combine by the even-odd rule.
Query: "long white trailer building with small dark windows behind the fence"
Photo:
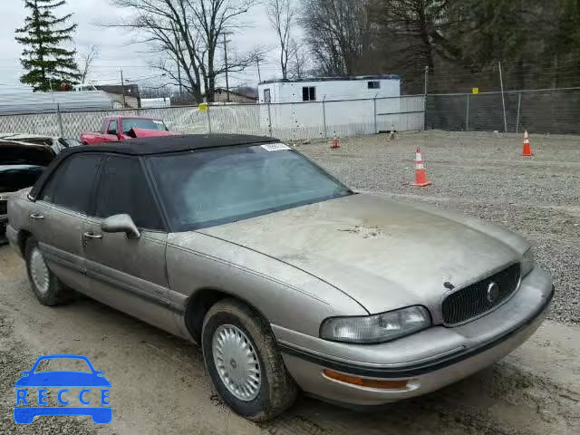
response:
[[[401,115],[409,111],[409,103],[416,104],[401,97],[398,75],[262,82],[258,92],[262,126],[285,137],[353,136],[418,128],[414,125],[418,122],[410,123],[408,115]],[[419,120],[419,116],[415,118]]]

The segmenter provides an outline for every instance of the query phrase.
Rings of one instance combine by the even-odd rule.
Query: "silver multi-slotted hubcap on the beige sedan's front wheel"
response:
[[[222,324],[211,344],[219,379],[240,401],[256,399],[262,375],[256,350],[246,333],[233,324]]]

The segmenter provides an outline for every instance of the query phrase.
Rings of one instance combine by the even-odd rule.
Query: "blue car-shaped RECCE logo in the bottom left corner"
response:
[[[38,364],[44,360],[82,360],[87,363],[91,372],[53,371],[36,372]],[[23,372],[24,376],[14,383],[16,388],[16,406],[14,421],[18,424],[30,424],[37,415],[80,416],[90,415],[97,424],[108,424],[112,420],[110,404],[111,382],[104,377],[103,372],[94,370],[91,361],[82,355],[44,355],[34,362],[33,368]],[[38,400],[28,388],[38,388]],[[67,406],[73,393],[67,388],[78,388],[78,400],[86,406]],[[58,388],[56,398],[62,406],[48,406],[48,388]],[[93,390],[99,390],[99,405],[94,406],[88,395]],[[93,393],[94,394],[94,393]],[[67,397],[68,396],[68,397]],[[29,403],[30,402],[30,403]],[[31,406],[32,405],[32,406]],[[39,406],[35,406],[39,405]],[[92,406],[90,406],[92,405]]]

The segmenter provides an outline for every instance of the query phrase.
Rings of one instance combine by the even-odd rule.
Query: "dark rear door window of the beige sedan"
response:
[[[43,188],[41,199],[80,213],[88,213],[101,159],[101,154],[80,154],[64,160]]]

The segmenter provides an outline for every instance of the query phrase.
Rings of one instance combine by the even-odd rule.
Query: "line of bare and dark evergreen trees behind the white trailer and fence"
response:
[[[401,74],[409,92],[578,86],[578,0],[301,0],[320,75]]]

